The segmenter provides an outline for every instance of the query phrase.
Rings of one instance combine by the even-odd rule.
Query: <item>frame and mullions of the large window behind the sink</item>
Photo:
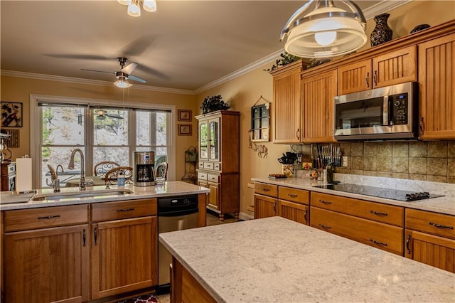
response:
[[[41,159],[38,160],[38,155],[40,155],[40,142],[42,139],[42,129],[41,129],[41,112],[38,110],[38,102],[46,103],[67,103],[74,105],[89,105],[90,107],[112,107],[113,104],[122,104],[119,100],[99,100],[99,99],[90,99],[90,98],[78,98],[78,97],[63,97],[63,96],[54,96],[54,95],[30,95],[30,153],[32,159],[37,159],[33,161],[33,174],[32,174],[32,184],[33,188],[41,188],[41,182],[39,181],[41,176]],[[127,102],[128,108],[137,108],[143,110],[165,110],[170,111],[169,121],[168,121],[168,180],[173,181],[176,178],[176,105],[163,105],[163,104],[149,104],[149,103],[134,103]],[[132,110],[129,112],[129,117],[132,118],[136,114],[136,111]],[[93,115],[89,111],[88,115]],[[130,121],[132,121],[130,119]],[[135,118],[134,118],[135,121]],[[90,123],[85,123],[85,134],[88,132],[93,133],[92,125]],[[86,167],[92,162],[92,142],[87,142],[87,137],[85,140],[85,148],[87,151],[87,156],[85,155],[85,164]],[[136,141],[136,127],[131,127],[129,132],[129,145],[134,145]],[[132,163],[132,154],[129,154],[129,163]],[[63,164],[64,166],[66,164]],[[88,170],[87,170],[88,172]],[[87,173],[86,173],[87,174]]]

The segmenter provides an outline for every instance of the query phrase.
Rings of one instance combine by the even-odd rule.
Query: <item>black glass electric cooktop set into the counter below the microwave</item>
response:
[[[422,199],[443,197],[443,195],[435,195],[427,191],[402,191],[400,189],[380,188],[375,186],[365,186],[357,184],[326,184],[314,186],[319,188],[333,189],[334,191],[344,191],[346,193],[359,193],[366,196],[374,196],[397,201],[417,201]]]

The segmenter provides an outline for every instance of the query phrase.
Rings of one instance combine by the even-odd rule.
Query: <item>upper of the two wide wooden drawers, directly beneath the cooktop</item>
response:
[[[403,227],[405,209],[327,193],[311,192],[311,206]]]

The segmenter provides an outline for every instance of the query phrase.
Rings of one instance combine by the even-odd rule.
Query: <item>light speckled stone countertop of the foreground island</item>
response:
[[[161,233],[217,302],[454,302],[455,275],[281,217]]]

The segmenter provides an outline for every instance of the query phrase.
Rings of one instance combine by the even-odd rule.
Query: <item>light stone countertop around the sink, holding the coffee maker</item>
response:
[[[65,187],[61,188],[61,193],[90,193],[93,191],[103,191],[106,186],[87,186],[85,191],[79,191],[77,187]],[[111,189],[117,189],[118,186],[111,186]],[[166,181],[162,186],[133,186],[127,185],[124,188],[129,189],[133,193],[127,193],[124,195],[108,195],[108,196],[96,196],[96,197],[85,197],[85,198],[63,198],[60,200],[49,200],[49,201],[30,201],[34,193],[16,194],[12,191],[0,192],[0,211],[7,211],[11,209],[23,209],[23,208],[38,208],[48,206],[66,206],[84,203],[98,203],[107,201],[127,201],[136,200],[141,198],[158,198],[165,196],[183,196],[193,195],[198,193],[209,193],[210,189],[189,184],[182,181]],[[42,193],[53,193],[53,188],[45,188],[37,190],[36,194]],[[58,194],[58,193],[56,193]]]

